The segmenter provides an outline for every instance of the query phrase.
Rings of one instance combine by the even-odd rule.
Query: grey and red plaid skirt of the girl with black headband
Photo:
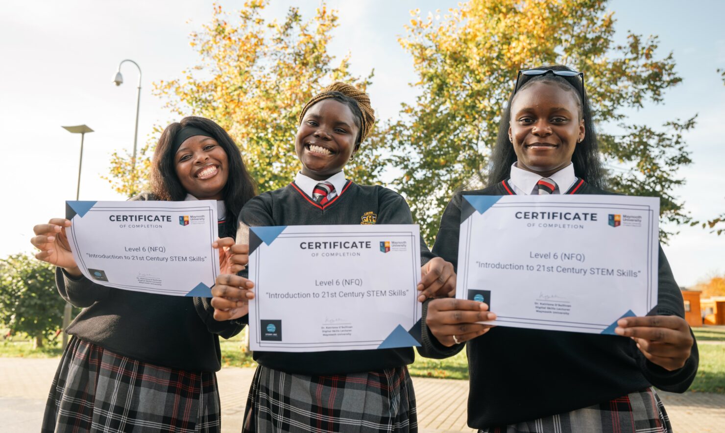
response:
[[[214,373],[142,363],[73,337],[42,432],[220,432]]]

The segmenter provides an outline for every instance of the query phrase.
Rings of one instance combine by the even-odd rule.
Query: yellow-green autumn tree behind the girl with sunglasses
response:
[[[388,125],[396,144],[399,191],[413,207],[429,242],[455,189],[486,184],[486,168],[500,115],[519,69],[563,64],[584,73],[610,168],[609,188],[661,198],[661,218],[688,220],[674,197],[689,164],[682,133],[695,120],[663,128],[627,122],[627,109],[659,103],[682,79],[672,54],[658,54],[658,38],[627,33],[614,41],[614,17],[602,0],[471,0],[445,15],[420,15],[399,39],[413,57],[420,96],[403,104]],[[663,233],[664,238],[668,233]]]

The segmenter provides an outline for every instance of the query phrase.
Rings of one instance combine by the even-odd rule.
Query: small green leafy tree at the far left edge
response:
[[[24,332],[41,347],[62,326],[65,301],[55,287],[55,267],[28,255],[0,260],[0,323]]]

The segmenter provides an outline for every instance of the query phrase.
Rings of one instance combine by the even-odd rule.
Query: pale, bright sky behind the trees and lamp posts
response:
[[[219,1],[233,9],[241,1]],[[309,18],[317,1],[299,2]],[[267,14],[283,17],[289,1],[274,1]],[[427,12],[455,7],[455,1],[330,1],[339,10],[331,52],[352,54],[352,72],[375,69],[369,88],[378,117],[395,116],[401,102],[416,91],[412,60],[397,37],[410,20],[410,9]],[[661,125],[699,115],[686,139],[695,163],[682,170],[687,185],[675,191],[694,218],[725,211],[725,86],[716,69],[725,67],[725,2],[612,1],[617,38],[630,29],[660,36],[660,57],[674,52],[684,82],[668,91],[665,104],[632,111],[634,123]],[[13,1],[0,9],[0,123],[6,136],[4,195],[0,213],[0,257],[32,250],[36,223],[64,214],[64,201],[75,199],[80,137],[61,125],[86,123],[80,199],[123,199],[100,176],[109,154],[133,147],[136,81],[133,65],[123,66],[125,83],[112,83],[118,63],[141,65],[142,144],[154,124],[175,119],[151,94],[151,83],[178,77],[198,57],[188,33],[210,20],[210,1]],[[665,247],[679,284],[689,286],[725,273],[725,236],[701,228],[680,228]]]

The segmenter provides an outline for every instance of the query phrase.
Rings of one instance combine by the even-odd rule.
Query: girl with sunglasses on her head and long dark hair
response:
[[[457,265],[463,194],[613,194],[602,189],[583,82],[583,74],[561,66],[519,73],[502,115],[489,186],[453,197],[436,255]],[[480,432],[670,432],[652,387],[684,392],[698,357],[661,248],[658,273],[657,315],[621,319],[618,336],[492,327],[476,323],[496,318],[483,302],[431,300],[424,313],[425,354],[444,358],[468,342],[468,425]]]

